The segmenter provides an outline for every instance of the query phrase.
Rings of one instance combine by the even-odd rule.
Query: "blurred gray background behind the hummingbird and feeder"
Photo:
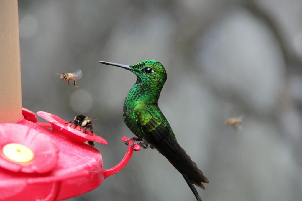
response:
[[[156,59],[168,79],[159,107],[210,180],[207,200],[302,200],[302,1],[19,1],[23,107],[72,120],[85,114],[124,156],[124,98],[136,81],[99,60]],[[78,88],[56,73],[82,69]],[[242,129],[225,125],[244,115]],[[80,200],[195,200],[156,150]]]

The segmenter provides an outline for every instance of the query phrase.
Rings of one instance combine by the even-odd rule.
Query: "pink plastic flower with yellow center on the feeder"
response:
[[[0,125],[0,167],[9,171],[45,173],[57,166],[58,148],[43,133],[25,125]]]

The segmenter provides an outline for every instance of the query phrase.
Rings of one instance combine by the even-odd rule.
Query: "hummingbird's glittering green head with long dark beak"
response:
[[[156,60],[145,60],[133,65],[124,65],[111,62],[100,63],[107,65],[114,65],[120,68],[130,70],[137,75],[136,84],[142,83],[143,85],[149,85],[150,87],[159,87],[160,89],[167,80],[167,73],[165,68]]]

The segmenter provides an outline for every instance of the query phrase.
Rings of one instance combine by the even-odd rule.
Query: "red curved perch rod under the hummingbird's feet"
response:
[[[127,137],[122,137],[122,141],[125,142],[128,138]],[[124,156],[124,158],[113,168],[109,168],[107,170],[104,170],[104,178],[110,177],[111,175],[116,174],[117,172],[119,172],[121,169],[123,169],[126,164],[129,162],[132,154],[133,154],[133,148],[131,147],[131,144],[135,142],[133,140],[129,140],[129,147],[128,150]],[[140,151],[140,145],[136,144],[134,145],[134,150],[135,151]]]

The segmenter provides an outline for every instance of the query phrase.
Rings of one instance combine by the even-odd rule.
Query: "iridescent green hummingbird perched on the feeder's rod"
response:
[[[136,141],[131,146],[139,144],[143,148],[157,149],[182,174],[196,199],[201,201],[193,184],[205,190],[203,183],[209,183],[209,180],[178,144],[171,126],[158,107],[159,94],[167,80],[163,65],[156,60],[134,65],[100,63],[127,69],[137,76],[123,108],[124,122],[137,136],[130,138]]]

